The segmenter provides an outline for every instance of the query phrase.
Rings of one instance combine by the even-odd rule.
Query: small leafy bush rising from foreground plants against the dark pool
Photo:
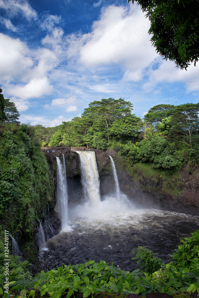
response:
[[[133,249],[131,254],[135,253],[135,257],[132,257],[131,260],[138,260],[136,263],[142,272],[152,274],[164,266],[163,261],[156,257],[157,253],[153,253],[145,246],[138,246],[138,248]]]

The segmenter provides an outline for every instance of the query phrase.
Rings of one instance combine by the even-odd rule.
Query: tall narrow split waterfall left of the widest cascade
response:
[[[57,159],[57,190],[56,190],[56,206],[55,212],[60,214],[62,231],[68,230],[68,195],[67,195],[67,181],[66,181],[66,167],[63,155],[63,165],[60,159]]]

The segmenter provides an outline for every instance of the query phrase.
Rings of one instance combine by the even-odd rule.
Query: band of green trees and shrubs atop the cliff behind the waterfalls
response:
[[[198,111],[199,103],[161,104],[140,119],[129,102],[102,99],[90,103],[81,117],[56,127],[49,146],[112,148],[131,165],[148,163],[173,172],[185,162],[199,162]]]

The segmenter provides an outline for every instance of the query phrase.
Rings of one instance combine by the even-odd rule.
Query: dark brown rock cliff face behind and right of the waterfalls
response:
[[[83,187],[81,184],[81,172],[78,153],[75,151],[95,151],[98,171],[100,176],[101,196],[114,192],[115,182],[112,176],[112,167],[109,155],[113,157],[117,169],[120,189],[126,193],[130,200],[142,207],[154,207],[157,209],[199,215],[199,174],[198,169],[193,169],[190,175],[186,169],[181,172],[181,192],[179,195],[171,195],[163,189],[163,181],[155,181],[154,177],[146,178],[144,175],[138,181],[127,172],[126,166],[120,156],[113,150],[103,152],[99,149],[87,149],[85,147],[52,147],[44,150],[50,167],[50,174],[54,184],[54,195],[56,190],[56,156],[63,160],[65,158],[67,184],[69,192],[69,204],[78,202],[83,198]],[[168,188],[169,186],[168,183]],[[181,195],[180,195],[181,193]]]

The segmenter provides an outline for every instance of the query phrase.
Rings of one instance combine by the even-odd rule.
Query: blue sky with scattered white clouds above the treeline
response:
[[[21,123],[55,126],[94,100],[198,103],[199,64],[164,61],[136,4],[105,0],[0,0],[0,86]]]

